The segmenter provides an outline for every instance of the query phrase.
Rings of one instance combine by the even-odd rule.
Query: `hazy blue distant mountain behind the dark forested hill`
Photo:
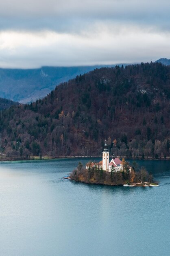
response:
[[[0,97],[28,103],[46,96],[61,82],[66,82],[96,67],[41,67],[38,69],[0,68]]]

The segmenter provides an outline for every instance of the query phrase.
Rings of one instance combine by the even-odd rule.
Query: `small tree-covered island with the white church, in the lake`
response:
[[[136,164],[130,166],[124,159],[122,161],[113,155],[109,162],[109,150],[105,140],[105,147],[100,162],[89,162],[85,167],[79,162],[69,178],[76,182],[87,184],[101,184],[110,186],[158,186],[153,182],[152,173],[142,167],[137,172]]]

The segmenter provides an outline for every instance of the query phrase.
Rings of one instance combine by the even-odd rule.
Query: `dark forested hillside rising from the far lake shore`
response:
[[[170,156],[170,66],[96,69],[0,117],[9,156],[100,155],[105,138],[115,155]]]

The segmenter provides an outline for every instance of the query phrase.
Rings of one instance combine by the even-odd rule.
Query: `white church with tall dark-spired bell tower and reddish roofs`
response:
[[[120,172],[123,170],[123,164],[122,161],[118,157],[112,157],[111,161],[109,162],[109,150],[107,147],[106,139],[105,139],[105,146],[104,150],[102,152],[102,161],[98,163],[89,162],[86,164],[86,169],[89,167],[94,167],[98,169],[103,169],[103,171],[111,172],[111,169],[113,169],[115,172]]]

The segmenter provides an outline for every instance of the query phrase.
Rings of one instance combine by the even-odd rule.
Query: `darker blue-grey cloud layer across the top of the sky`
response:
[[[11,0],[0,3],[1,29],[78,31],[95,21],[170,27],[168,0]]]

